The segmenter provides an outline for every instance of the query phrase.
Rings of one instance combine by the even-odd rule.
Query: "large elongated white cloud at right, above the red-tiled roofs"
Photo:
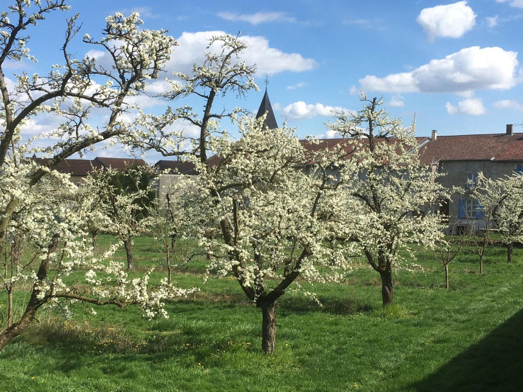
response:
[[[459,93],[485,89],[504,90],[518,80],[517,52],[502,48],[470,47],[431,60],[411,72],[390,74],[383,78],[367,75],[360,79],[364,90],[384,93]]]

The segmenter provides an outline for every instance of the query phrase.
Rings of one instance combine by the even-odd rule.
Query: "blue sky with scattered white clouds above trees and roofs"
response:
[[[268,73],[278,122],[288,118],[302,136],[333,136],[323,125],[329,109],[359,109],[359,89],[383,95],[390,112],[405,123],[416,113],[419,136],[431,129],[441,135],[504,132],[506,123],[523,122],[523,0],[71,4],[69,14],[80,14],[82,34],[97,36],[107,15],[132,10],[140,12],[144,27],[168,29],[182,44],[173,54],[173,69],[185,70],[201,57],[193,41],[204,40],[205,32],[241,31],[252,43],[246,58],[258,63],[261,91],[219,105],[256,112]],[[35,71],[47,72],[59,62],[65,16],[55,13],[32,34]],[[89,49],[81,42],[73,48],[77,56]]]

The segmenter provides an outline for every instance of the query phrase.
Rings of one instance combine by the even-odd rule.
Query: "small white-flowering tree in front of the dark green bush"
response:
[[[128,270],[134,269],[133,237],[147,232],[150,226],[149,211],[156,194],[151,177],[151,167],[143,165],[123,170],[93,168],[82,181],[82,193],[96,205],[94,218],[100,220],[102,214],[107,223],[104,231],[122,241]]]

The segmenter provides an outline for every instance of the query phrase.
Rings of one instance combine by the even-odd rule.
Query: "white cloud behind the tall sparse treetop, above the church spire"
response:
[[[218,47],[206,49],[208,40],[212,36],[223,35],[223,31],[184,32],[177,39],[180,44],[174,50],[167,64],[168,71],[190,73],[192,64],[202,63],[204,53],[218,51]],[[269,41],[261,36],[242,36],[241,40],[249,45],[241,55],[240,60],[247,64],[256,64],[258,75],[274,75],[283,71],[303,72],[312,70],[316,66],[314,59],[307,59],[299,53],[285,53],[271,48]]]

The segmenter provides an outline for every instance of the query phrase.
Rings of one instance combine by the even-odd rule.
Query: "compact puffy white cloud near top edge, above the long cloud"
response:
[[[436,37],[460,38],[476,23],[476,14],[466,1],[424,8],[416,21],[423,27],[429,41]]]

